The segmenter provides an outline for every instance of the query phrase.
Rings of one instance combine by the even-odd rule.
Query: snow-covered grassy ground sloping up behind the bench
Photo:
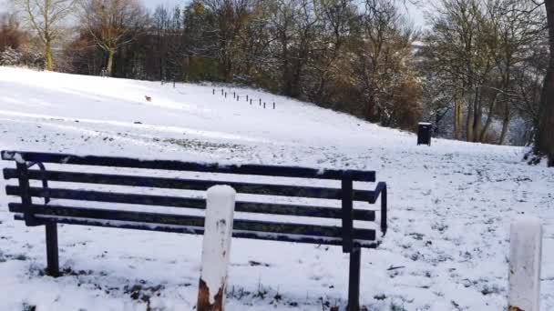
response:
[[[0,149],[376,170],[390,189],[390,229],[363,253],[367,310],[505,309],[509,223],[536,215],[545,224],[542,310],[554,309],[554,174],[521,162],[525,149],[416,146],[412,134],[233,91],[240,102],[210,86],[0,67]],[[44,228],[15,222],[5,202],[1,191],[0,310],[193,309],[200,236],[63,226],[66,274],[54,279],[42,274]],[[347,264],[340,247],[235,239],[228,309],[344,306]]]

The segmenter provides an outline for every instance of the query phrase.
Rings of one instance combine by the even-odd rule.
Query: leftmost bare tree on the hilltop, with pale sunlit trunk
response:
[[[61,37],[62,24],[77,0],[12,0],[16,10],[44,45],[46,70],[54,70],[53,45]]]

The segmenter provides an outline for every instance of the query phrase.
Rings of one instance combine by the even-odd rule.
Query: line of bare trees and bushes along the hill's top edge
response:
[[[395,0],[12,2],[5,65],[249,85],[472,142],[528,144],[540,123],[549,35],[531,0],[439,0],[426,31]]]

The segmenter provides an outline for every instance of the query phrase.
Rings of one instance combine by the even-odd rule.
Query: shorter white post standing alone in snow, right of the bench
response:
[[[509,311],[539,311],[542,226],[537,217],[525,216],[510,227]]]

